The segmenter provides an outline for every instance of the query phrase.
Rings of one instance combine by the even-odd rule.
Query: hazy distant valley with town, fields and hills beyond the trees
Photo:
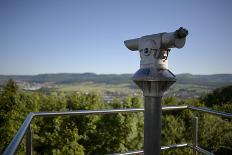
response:
[[[59,94],[71,92],[98,92],[106,102],[128,95],[142,96],[142,92],[131,80],[132,74],[101,75],[83,74],[41,74],[35,76],[0,75],[0,87],[8,79],[17,82],[24,91]],[[177,82],[165,93],[165,97],[181,99],[199,98],[213,89],[232,84],[232,74],[192,75],[178,74]]]

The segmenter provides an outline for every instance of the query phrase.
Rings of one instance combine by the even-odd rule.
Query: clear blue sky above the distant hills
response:
[[[123,41],[189,30],[174,74],[232,73],[231,0],[0,0],[0,74],[122,74],[139,69]]]

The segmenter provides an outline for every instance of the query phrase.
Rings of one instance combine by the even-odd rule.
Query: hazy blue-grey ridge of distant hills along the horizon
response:
[[[105,83],[105,84],[122,84],[129,83],[134,85],[131,77],[132,74],[95,74],[95,73],[59,73],[59,74],[39,74],[39,75],[0,75],[0,83],[8,79],[16,81],[55,84],[71,83]],[[177,84],[194,84],[220,87],[232,84],[232,74],[213,74],[213,75],[192,75],[177,74]]]

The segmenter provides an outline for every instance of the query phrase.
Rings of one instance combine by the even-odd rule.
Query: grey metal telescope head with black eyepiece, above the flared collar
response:
[[[125,46],[131,51],[140,52],[140,68],[168,69],[170,48],[182,48],[185,45],[188,30],[180,27],[174,32],[164,32],[125,40]]]

